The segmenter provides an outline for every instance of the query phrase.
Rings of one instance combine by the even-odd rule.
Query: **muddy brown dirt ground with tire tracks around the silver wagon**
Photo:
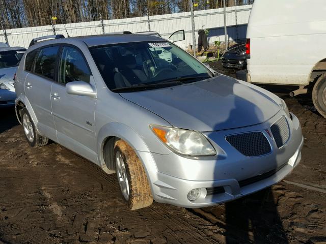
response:
[[[0,244],[326,243],[326,119],[307,96],[266,88],[301,121],[300,165],[270,189],[199,209],[153,203],[129,211],[114,174],[56,143],[32,149],[13,108],[0,110]]]

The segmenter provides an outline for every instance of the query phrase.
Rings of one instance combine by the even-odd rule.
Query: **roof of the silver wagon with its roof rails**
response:
[[[143,34],[103,34],[94,36],[81,36],[81,37],[68,37],[59,39],[50,39],[45,41],[37,42],[31,46],[35,48],[42,47],[49,44],[74,44],[74,41],[84,42],[88,47],[104,46],[118,43],[132,43],[132,42],[156,42],[156,41],[167,41],[157,36],[143,35]],[[31,48],[31,50],[34,48]]]

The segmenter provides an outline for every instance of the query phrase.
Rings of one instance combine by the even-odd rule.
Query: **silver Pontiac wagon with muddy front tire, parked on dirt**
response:
[[[282,99],[172,42],[49,38],[31,42],[14,82],[26,140],[51,139],[116,173],[130,209],[231,201],[276,184],[301,160],[301,126]]]

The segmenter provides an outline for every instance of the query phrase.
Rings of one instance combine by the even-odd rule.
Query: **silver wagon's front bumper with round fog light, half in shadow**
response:
[[[271,124],[279,118],[280,113],[271,119]],[[240,133],[259,127],[263,130],[268,123],[236,131]],[[174,153],[157,155],[138,152],[145,164],[154,200],[182,207],[205,207],[228,202],[276,184],[301,160],[304,140],[300,123],[293,114],[289,127],[291,136],[286,145],[282,148],[273,147],[270,155],[261,157],[241,158],[229,150],[226,151],[226,157],[206,160],[187,159]],[[273,138],[270,140],[273,143]],[[188,200],[188,192],[196,188],[202,189],[200,197],[195,201]]]

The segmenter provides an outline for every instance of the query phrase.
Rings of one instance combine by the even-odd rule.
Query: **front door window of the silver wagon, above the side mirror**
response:
[[[71,81],[90,82],[91,72],[83,55],[73,47],[63,47],[60,58],[59,82],[67,84]]]

